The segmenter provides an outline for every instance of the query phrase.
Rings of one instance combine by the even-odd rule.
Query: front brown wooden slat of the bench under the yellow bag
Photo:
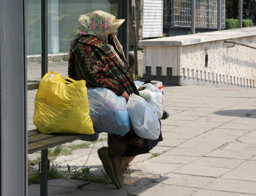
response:
[[[46,135],[46,134],[42,134]],[[44,139],[38,142],[30,143],[28,144],[28,153],[35,153],[40,150],[44,150],[47,148],[52,148],[57,145],[62,145],[66,144],[68,142],[73,142],[78,139],[84,139],[84,138],[89,138],[91,135],[81,135],[81,134],[63,134],[63,135],[58,135],[56,137],[51,137],[48,139]]]

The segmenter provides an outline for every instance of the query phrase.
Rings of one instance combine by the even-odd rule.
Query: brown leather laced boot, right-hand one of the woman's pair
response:
[[[130,163],[129,160],[127,159],[127,157],[117,157],[111,154],[108,156],[106,160],[106,164],[108,165],[109,176],[112,183],[115,184],[115,186],[118,189],[121,189],[123,186],[122,178],[126,167]]]

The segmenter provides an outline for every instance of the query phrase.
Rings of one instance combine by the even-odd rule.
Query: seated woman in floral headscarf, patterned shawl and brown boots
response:
[[[68,77],[85,80],[87,87],[107,88],[128,101],[130,94],[139,92],[114,34],[123,22],[103,11],[81,15],[71,38]],[[129,163],[136,155],[149,153],[162,140],[161,132],[156,140],[143,139],[132,129],[122,137],[108,134],[108,147],[100,148],[98,155],[113,184],[120,189]]]

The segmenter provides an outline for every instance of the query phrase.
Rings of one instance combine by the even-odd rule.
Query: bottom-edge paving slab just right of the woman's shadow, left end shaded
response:
[[[169,185],[169,184],[158,184],[154,183],[148,186],[143,186],[140,189],[132,192],[132,195],[137,196],[148,196],[148,195],[157,195],[157,196],[185,196],[190,195],[196,192],[197,188],[185,187],[185,186],[177,186],[177,185]]]

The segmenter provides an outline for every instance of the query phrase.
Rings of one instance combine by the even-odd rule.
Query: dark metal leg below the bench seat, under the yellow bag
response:
[[[41,167],[40,167],[41,166]],[[47,180],[48,180],[48,149],[41,151],[40,170],[40,196],[47,196]]]

